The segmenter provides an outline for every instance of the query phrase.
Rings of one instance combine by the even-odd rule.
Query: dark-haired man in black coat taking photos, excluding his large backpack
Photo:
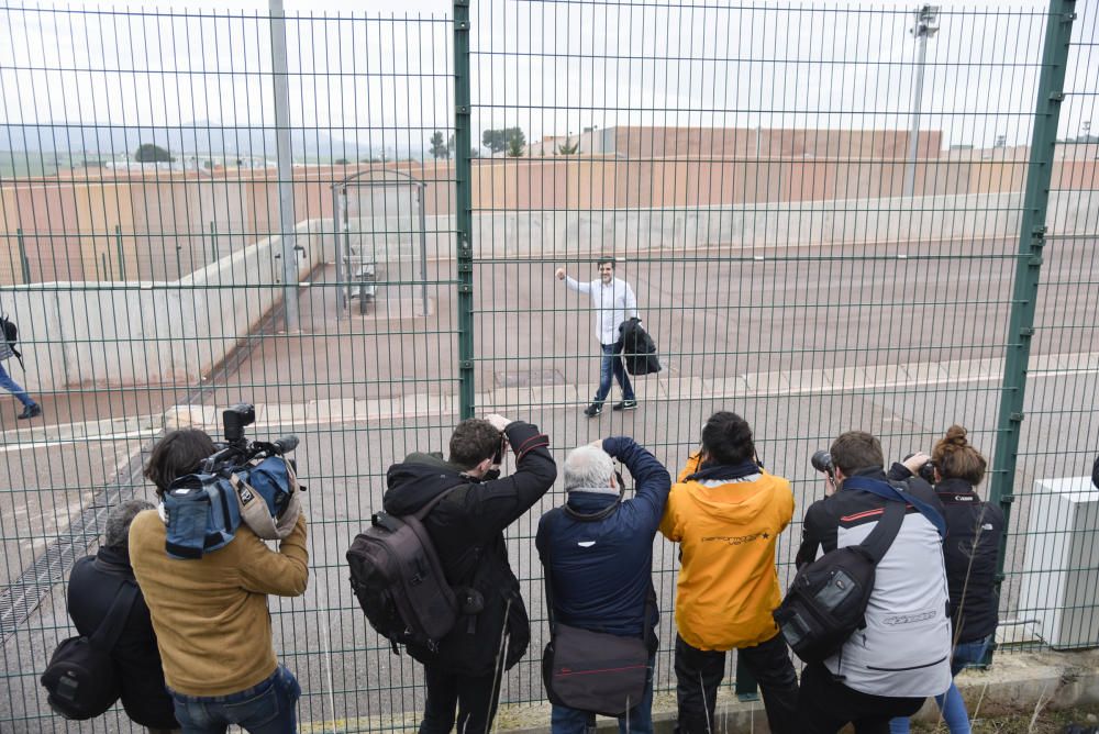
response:
[[[500,477],[509,445],[515,471]],[[535,425],[496,414],[455,426],[447,460],[442,454],[415,452],[389,467],[385,513],[423,513],[419,522],[446,582],[462,600],[449,632],[430,644],[406,645],[423,664],[428,683],[420,734],[447,734],[455,725],[455,707],[459,734],[482,734],[491,727],[501,676],[523,657],[531,637],[503,531],[542,499],[556,478],[548,436]]]

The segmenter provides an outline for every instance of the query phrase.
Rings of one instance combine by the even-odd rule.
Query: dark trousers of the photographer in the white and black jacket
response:
[[[846,724],[856,734],[889,734],[889,720],[911,716],[924,699],[872,696],[847,688],[821,663],[801,671],[801,730],[804,734],[835,734]]]

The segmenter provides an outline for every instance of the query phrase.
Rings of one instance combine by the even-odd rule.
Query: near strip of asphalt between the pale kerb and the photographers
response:
[[[1099,387],[1095,374],[1040,378],[1036,382],[1044,386],[1051,380],[1058,382],[1056,393],[1090,393]],[[970,396],[973,418],[992,420],[996,396],[995,390],[974,392]],[[933,426],[952,420],[950,409],[917,398],[914,393],[844,392],[771,397],[758,404],[736,405],[755,416],[757,433],[764,437],[761,454],[770,470],[793,481],[796,521],[782,535],[778,558],[784,585],[790,574],[790,561],[800,533],[798,521],[808,504],[822,492],[821,481],[808,464],[811,452],[823,445],[821,436],[839,433],[854,416],[892,426],[898,436],[930,433],[936,430]],[[655,446],[654,453],[675,472],[685,458],[686,447],[674,449],[684,427],[700,425],[706,415],[722,407],[722,402],[721,399],[699,399],[676,404],[643,403],[636,412],[604,413],[596,420],[585,419],[571,408],[535,408],[528,416],[551,435],[558,459],[571,445],[602,435],[630,434]],[[276,646],[302,682],[304,721],[329,722],[333,726],[343,726],[344,731],[377,729],[392,724],[390,719],[395,714],[415,712],[422,704],[422,678],[417,666],[407,656],[393,656],[388,646],[382,645],[377,635],[367,629],[347,586],[343,556],[370,511],[380,504],[384,486],[379,472],[413,447],[442,447],[452,421],[453,416],[421,416],[400,424],[297,427],[302,444],[296,456],[309,486],[311,580],[303,598],[271,599],[270,605]],[[804,425],[812,425],[814,430],[807,432]],[[295,429],[291,425],[282,427]],[[768,435],[787,437],[766,440]],[[571,440],[565,443],[558,436]],[[1046,441],[1055,442],[1063,453],[1084,452],[1088,449],[1090,436],[1065,429],[1029,440],[1024,449],[1033,455],[1033,459],[1025,463],[1019,486],[1029,486],[1034,477],[1061,471],[1058,457],[1043,453]],[[887,443],[891,456],[899,456],[908,447],[899,438]],[[151,492],[146,496],[151,497]],[[509,530],[511,563],[523,581],[523,596],[528,600],[534,629],[530,652],[509,674],[504,687],[504,701],[515,703],[520,714],[530,702],[542,700],[537,659],[545,640],[545,615],[540,567],[532,555],[532,538],[541,513],[562,500],[558,482],[540,504]],[[1015,504],[1015,518],[1022,522],[1019,526],[1026,524],[1026,504],[1025,501]],[[1018,544],[1012,545],[1009,568],[1018,568],[1020,549]],[[660,597],[660,636],[664,641],[658,658],[657,685],[666,687],[670,685],[671,670],[670,644],[674,634],[670,609],[676,553],[675,547],[660,537],[654,542],[654,581]],[[1014,580],[1018,579],[1012,577],[1009,581],[1009,589]],[[1010,618],[1010,612],[1006,616]],[[57,723],[48,716],[36,718],[46,711],[38,696],[36,676],[48,650],[59,636],[69,634],[68,629],[62,588],[58,586],[27,621],[24,630],[5,644],[8,696],[0,696],[0,711],[3,719],[13,725],[12,731],[48,731]],[[732,669],[731,659],[730,676]],[[512,711],[509,715],[514,713]],[[23,720],[23,716],[32,719]],[[110,731],[119,725],[125,729],[124,719],[121,724],[110,723],[113,719],[111,715],[106,720]]]

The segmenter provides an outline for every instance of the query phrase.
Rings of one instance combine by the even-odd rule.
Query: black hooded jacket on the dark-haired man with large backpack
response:
[[[526,652],[531,625],[526,607],[508,561],[503,530],[531,509],[553,486],[557,468],[550,440],[529,423],[508,426],[515,452],[515,471],[480,481],[430,454],[410,454],[389,468],[382,507],[392,515],[411,514],[440,492],[459,487],[424,519],[447,581],[480,592],[480,613],[458,621],[437,652],[409,646],[424,665],[457,675],[486,676],[496,667],[501,635],[508,634],[504,666],[511,668]]]

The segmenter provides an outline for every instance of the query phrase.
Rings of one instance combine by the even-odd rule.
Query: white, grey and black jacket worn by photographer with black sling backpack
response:
[[[881,468],[855,472],[887,481]],[[919,478],[904,488],[942,512],[934,490]],[[819,550],[862,543],[877,525],[886,500],[841,489],[806,513],[800,567]],[[878,564],[866,608],[866,626],[824,661],[843,685],[890,698],[937,696],[951,686],[951,618],[943,542],[935,526],[908,508],[897,538]]]

